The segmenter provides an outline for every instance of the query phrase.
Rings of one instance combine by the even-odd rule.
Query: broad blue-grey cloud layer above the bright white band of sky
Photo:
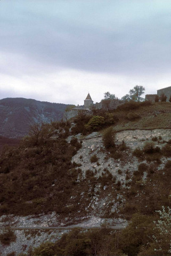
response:
[[[39,4],[40,2],[38,1]],[[95,1],[96,6],[97,2]],[[99,2],[102,4],[103,1]],[[17,1],[18,15],[14,13],[10,16],[10,10],[7,17],[3,15],[2,18],[1,51],[25,55],[30,62],[23,63],[23,68],[20,63],[18,72],[29,74],[59,67],[133,75],[169,71],[171,13],[167,7],[161,12],[159,9],[146,10],[147,14],[144,8],[144,14],[137,15],[136,10],[141,11],[140,8],[129,10],[130,13],[127,13],[128,5],[124,8],[118,1],[113,2],[114,5],[107,1],[110,3],[109,7],[103,3],[104,12],[103,8],[99,8],[97,14],[93,15],[90,10],[90,17],[88,5],[85,5],[84,12],[80,4],[77,7],[74,1],[71,1],[70,10],[66,5],[68,18],[62,17],[62,12],[67,15],[64,10],[60,13],[59,10],[47,7],[46,11],[45,7],[43,8],[45,1],[42,1],[40,10],[38,5],[34,5],[34,1],[28,1],[26,6],[23,2]],[[55,7],[55,1],[50,3]],[[125,1],[123,3],[126,4]],[[133,7],[135,1],[131,3]],[[148,2],[144,1],[144,5],[146,3]],[[74,6],[80,8],[83,20],[81,15],[75,19],[72,17],[72,13],[78,13]],[[116,17],[112,17],[112,7],[113,15]],[[117,7],[121,10],[120,16],[115,10]],[[16,8],[14,10],[17,12]],[[89,19],[87,24],[86,17]],[[35,69],[29,67],[34,61],[38,63]]]

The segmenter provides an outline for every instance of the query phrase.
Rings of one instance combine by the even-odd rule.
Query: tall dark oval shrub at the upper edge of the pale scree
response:
[[[113,130],[112,127],[109,127],[105,132],[103,133],[103,145],[106,149],[115,147],[115,135],[116,132]]]

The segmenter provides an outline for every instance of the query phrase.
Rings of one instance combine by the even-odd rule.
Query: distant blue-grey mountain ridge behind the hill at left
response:
[[[0,135],[8,138],[23,137],[30,125],[60,121],[68,105],[25,98],[0,100]]]

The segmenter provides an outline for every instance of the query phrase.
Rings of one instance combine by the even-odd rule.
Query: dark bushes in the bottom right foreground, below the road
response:
[[[128,227],[120,232],[105,223],[101,229],[76,228],[55,243],[46,242],[34,248],[29,256],[167,256],[170,255],[170,212],[162,207],[154,217],[136,213]]]

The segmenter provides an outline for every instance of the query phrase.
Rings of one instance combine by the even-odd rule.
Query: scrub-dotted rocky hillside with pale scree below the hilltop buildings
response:
[[[164,234],[165,244],[156,245],[154,235],[160,241],[162,237],[160,230],[154,234],[152,225],[158,220],[156,211],[171,207],[170,105],[133,107],[130,103],[112,113],[79,116],[72,124],[44,124],[19,147],[4,150],[0,157],[2,225],[91,227],[107,220],[112,226],[126,226],[128,221],[121,237],[112,238],[119,253],[96,255],[169,255],[170,237]],[[0,250],[4,255],[28,252],[30,244],[37,247],[47,239],[54,243],[63,233],[49,231],[14,231],[16,241],[10,238],[10,245]],[[67,254],[63,242],[58,246],[64,250],[59,255],[79,255]],[[153,253],[156,246],[166,253]]]

